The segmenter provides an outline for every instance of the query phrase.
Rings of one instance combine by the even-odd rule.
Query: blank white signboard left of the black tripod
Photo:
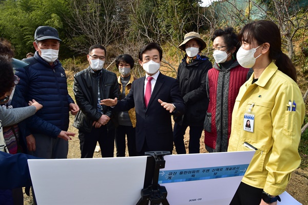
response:
[[[38,205],[136,204],[147,157],[28,160]]]

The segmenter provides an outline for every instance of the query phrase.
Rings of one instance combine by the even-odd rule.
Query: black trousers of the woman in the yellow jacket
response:
[[[262,199],[262,191],[263,189],[241,182],[230,205],[259,205]]]

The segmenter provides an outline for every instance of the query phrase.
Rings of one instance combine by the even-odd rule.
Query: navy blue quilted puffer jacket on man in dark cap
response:
[[[67,131],[69,104],[74,103],[68,95],[64,68],[58,60],[50,66],[37,51],[34,57],[24,61],[30,65],[16,68],[15,74],[21,79],[16,87],[24,102],[34,99],[43,105],[34,117],[26,120],[27,127],[32,134],[40,133],[56,138],[61,131]],[[13,98],[12,102],[20,103],[21,99]]]

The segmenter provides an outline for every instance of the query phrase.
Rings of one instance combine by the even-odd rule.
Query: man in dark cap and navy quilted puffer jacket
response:
[[[28,150],[46,159],[67,158],[68,140],[74,136],[67,132],[69,111],[76,115],[79,107],[68,95],[65,71],[57,59],[61,39],[56,29],[40,26],[34,40],[34,57],[25,59],[29,65],[16,68],[15,73],[21,79],[18,89],[24,99],[37,99],[44,104],[44,110],[36,113],[35,120],[26,122],[32,134],[26,135]]]

